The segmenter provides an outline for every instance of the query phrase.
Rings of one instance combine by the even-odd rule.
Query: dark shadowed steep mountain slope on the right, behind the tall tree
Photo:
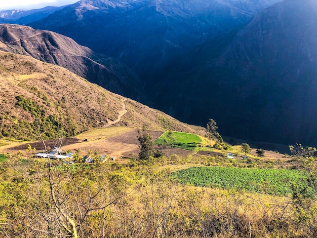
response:
[[[160,107],[180,120],[202,125],[213,117],[225,135],[314,145],[316,23],[313,0],[285,0],[267,8],[236,34],[214,38],[183,56],[167,76],[173,83],[162,90],[157,105],[171,101],[169,89],[181,85],[176,103]]]

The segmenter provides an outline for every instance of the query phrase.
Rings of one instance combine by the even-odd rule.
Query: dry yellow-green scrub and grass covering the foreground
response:
[[[88,166],[11,155],[0,164],[0,236],[307,237],[289,197],[182,185],[157,167],[174,159]]]

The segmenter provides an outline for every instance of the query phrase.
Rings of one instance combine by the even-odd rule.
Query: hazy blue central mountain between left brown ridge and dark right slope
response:
[[[116,58],[147,81],[162,64],[281,0],[82,0],[30,23]]]

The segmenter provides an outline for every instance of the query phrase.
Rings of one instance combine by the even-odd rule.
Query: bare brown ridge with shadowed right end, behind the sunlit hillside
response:
[[[144,98],[144,83],[129,67],[58,33],[0,24],[0,50],[65,67],[111,92],[137,100]]]

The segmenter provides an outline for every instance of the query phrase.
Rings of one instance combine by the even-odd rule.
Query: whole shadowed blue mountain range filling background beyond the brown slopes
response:
[[[122,61],[110,71],[129,72],[126,90],[112,91],[181,121],[214,118],[226,136],[313,145],[316,13],[312,0],[82,0],[29,25],[92,48],[86,56],[98,63]],[[90,81],[111,90],[107,80]]]

